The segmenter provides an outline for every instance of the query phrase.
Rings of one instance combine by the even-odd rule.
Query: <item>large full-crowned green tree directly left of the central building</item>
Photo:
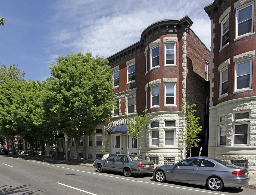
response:
[[[92,53],[59,56],[50,64],[52,80],[57,83],[52,94],[57,101],[52,111],[62,121],[63,131],[76,143],[79,161],[79,141],[91,135],[96,126],[112,115],[114,105],[113,79],[108,61]]]

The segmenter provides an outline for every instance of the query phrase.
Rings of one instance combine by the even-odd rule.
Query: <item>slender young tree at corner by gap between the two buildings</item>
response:
[[[187,102],[181,105],[182,115],[185,118],[186,124],[185,132],[181,132],[183,137],[181,142],[185,143],[189,151],[191,151],[192,146],[198,147],[197,142],[200,141],[200,139],[197,138],[197,135],[199,131],[202,131],[202,126],[198,125],[199,117],[195,117],[196,109],[194,109],[194,107],[196,107],[195,104],[190,106]]]

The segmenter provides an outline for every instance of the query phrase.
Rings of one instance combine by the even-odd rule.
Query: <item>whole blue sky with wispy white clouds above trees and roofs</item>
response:
[[[1,0],[0,63],[18,64],[25,79],[45,80],[58,56],[90,51],[107,58],[139,41],[152,23],[186,15],[210,48],[211,21],[203,8],[213,1]]]

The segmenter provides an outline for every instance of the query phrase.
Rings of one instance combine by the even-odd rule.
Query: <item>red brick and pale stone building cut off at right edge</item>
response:
[[[215,0],[211,19],[208,156],[256,173],[256,37],[254,0]]]

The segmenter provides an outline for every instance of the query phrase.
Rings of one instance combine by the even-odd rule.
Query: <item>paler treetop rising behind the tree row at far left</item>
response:
[[[9,68],[4,64],[0,64],[0,85],[9,80],[24,80],[25,72],[18,69],[18,65],[12,63]]]

